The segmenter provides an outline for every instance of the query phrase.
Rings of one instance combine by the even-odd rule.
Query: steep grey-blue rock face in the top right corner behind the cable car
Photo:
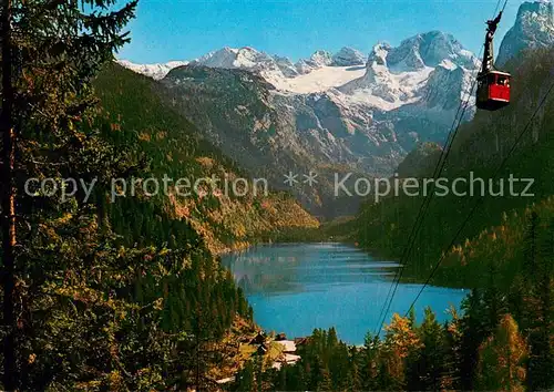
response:
[[[502,40],[496,64],[502,66],[522,50],[537,48],[554,48],[554,4],[551,1],[521,4],[515,24]]]

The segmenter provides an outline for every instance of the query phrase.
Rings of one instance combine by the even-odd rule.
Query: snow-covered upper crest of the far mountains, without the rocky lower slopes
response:
[[[411,37],[398,48],[379,43],[369,58],[345,47],[335,54],[319,50],[309,59],[293,63],[287,58],[269,55],[254,48],[224,48],[192,61],[189,65],[246,70],[271,83],[277,93],[328,92],[347,106],[390,111],[422,100],[429,80],[452,83],[455,80],[454,84],[461,87],[461,81],[478,69],[478,60],[452,35],[431,31]],[[458,74],[458,79],[448,75],[451,72]],[[434,76],[430,79],[432,74]],[[447,90],[455,90],[455,85]],[[460,90],[460,94],[463,93]],[[459,96],[443,102],[443,107],[458,103]]]

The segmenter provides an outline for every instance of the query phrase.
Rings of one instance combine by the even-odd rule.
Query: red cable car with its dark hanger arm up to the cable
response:
[[[484,44],[483,64],[478,75],[476,106],[485,111],[495,111],[510,104],[512,75],[494,69],[493,38],[502,18],[502,11],[496,19],[486,21],[486,38]]]

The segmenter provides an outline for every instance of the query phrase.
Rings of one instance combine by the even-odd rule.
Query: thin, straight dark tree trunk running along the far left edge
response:
[[[16,159],[16,134],[13,130],[12,106],[12,43],[11,43],[12,0],[3,0],[2,7],[2,156],[0,184],[2,185],[2,264],[3,264],[3,389],[14,391],[18,388],[16,365],[16,316],[13,311],[14,265],[16,265],[16,189],[13,186],[13,165]]]

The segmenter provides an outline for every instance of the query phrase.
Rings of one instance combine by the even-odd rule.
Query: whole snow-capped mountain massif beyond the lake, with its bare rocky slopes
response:
[[[336,54],[317,51],[294,64],[253,48],[224,48],[172,71],[164,84],[175,99],[183,96],[184,113],[234,158],[255,161],[255,148],[270,143],[280,148],[274,151],[275,162],[304,156],[316,166],[332,163],[389,175],[419,141],[443,142],[478,65],[452,35],[432,31],[398,48],[379,43],[367,59],[342,48]],[[246,78],[245,71],[256,78]],[[199,96],[204,90],[206,100]],[[233,102],[226,114],[215,111],[214,97],[218,106]],[[201,116],[198,106],[211,117]],[[226,125],[219,130],[217,123]],[[238,143],[229,130],[244,126],[255,148],[239,157],[246,142]],[[260,130],[274,130],[269,141]],[[267,154],[264,149],[260,159]]]

